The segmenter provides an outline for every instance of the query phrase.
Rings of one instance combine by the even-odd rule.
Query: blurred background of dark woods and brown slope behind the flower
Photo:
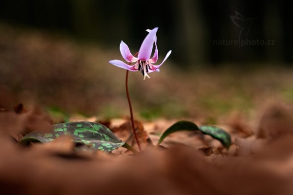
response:
[[[125,71],[108,61],[122,59],[121,40],[136,53],[156,26],[158,62],[172,54],[149,80],[130,74],[139,117],[213,123],[292,104],[292,8],[285,0],[1,0],[0,84],[9,95],[0,106],[127,116]]]

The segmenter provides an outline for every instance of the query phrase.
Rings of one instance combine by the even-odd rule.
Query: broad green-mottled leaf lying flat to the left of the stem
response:
[[[121,141],[106,126],[97,122],[68,122],[52,125],[50,133],[42,133],[41,131],[31,132],[21,138],[21,144],[27,144],[30,141],[48,142],[62,135],[70,135],[77,145],[86,145],[89,148],[104,151],[105,153],[123,146],[126,143]]]

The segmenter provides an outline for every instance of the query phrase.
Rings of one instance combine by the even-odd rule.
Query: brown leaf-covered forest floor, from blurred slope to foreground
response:
[[[64,120],[100,122],[125,141],[131,129],[126,72],[108,64],[121,59],[118,48],[5,25],[0,37],[4,194],[293,194],[292,69],[230,64],[184,71],[170,60],[150,79],[129,77],[142,153],[75,151],[70,137],[24,148],[18,138]],[[184,131],[159,149],[148,144],[182,119],[225,129],[230,148]]]

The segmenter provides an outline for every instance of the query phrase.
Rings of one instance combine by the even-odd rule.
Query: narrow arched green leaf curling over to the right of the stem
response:
[[[223,146],[229,149],[231,145],[231,138],[230,135],[224,131],[223,129],[216,127],[216,126],[197,126],[195,123],[187,120],[181,120],[174,123],[170,126],[160,137],[157,145],[162,143],[162,141],[170,134],[177,132],[177,131],[200,131],[203,134],[207,134],[217,140],[219,140]]]

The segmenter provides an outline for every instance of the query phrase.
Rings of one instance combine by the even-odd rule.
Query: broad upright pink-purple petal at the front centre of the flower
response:
[[[157,31],[158,27],[152,29],[151,32],[146,36],[139,49],[138,59],[146,61],[150,58]]]

